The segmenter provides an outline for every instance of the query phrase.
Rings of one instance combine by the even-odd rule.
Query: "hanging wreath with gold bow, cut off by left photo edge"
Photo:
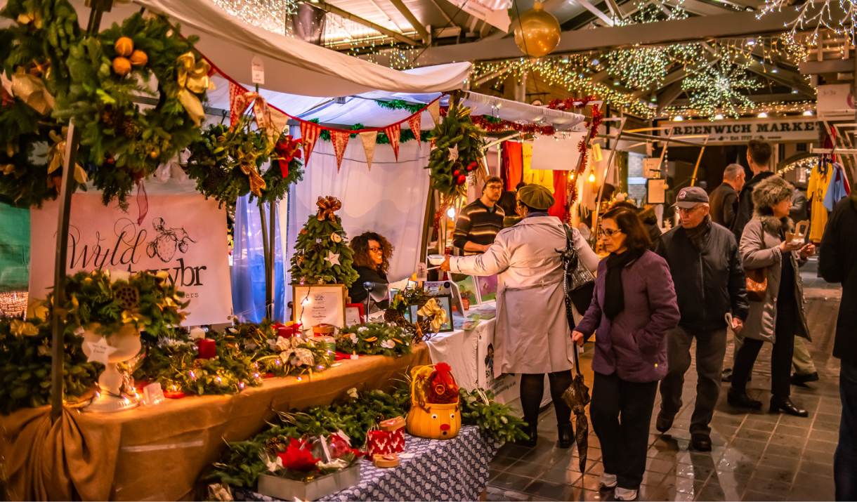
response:
[[[54,97],[70,86],[69,48],[81,38],[66,0],[10,0],[0,16],[0,195],[16,206],[40,206],[59,193],[65,150],[63,123],[51,117]],[[86,182],[77,166],[75,179]]]

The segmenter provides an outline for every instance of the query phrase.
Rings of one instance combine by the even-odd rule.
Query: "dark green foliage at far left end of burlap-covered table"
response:
[[[0,318],[0,413],[51,403],[52,338],[51,323],[45,320]],[[63,397],[67,403],[75,403],[93,388],[101,368],[87,362],[82,340],[65,331]]]

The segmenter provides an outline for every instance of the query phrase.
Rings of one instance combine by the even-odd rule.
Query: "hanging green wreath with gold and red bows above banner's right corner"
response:
[[[289,186],[303,179],[302,163],[297,158],[289,162],[289,176],[283,177],[278,160],[273,156],[274,145],[260,131],[250,131],[251,119],[243,116],[234,128],[223,124],[209,126],[199,140],[189,146],[190,157],[184,170],[196,180],[196,189],[208,197],[218,200],[220,206],[235,206],[238,197],[249,194],[249,176],[241,170],[240,163],[249,162],[261,170],[271,161],[271,166],[261,173],[266,188],[261,190],[260,203],[281,200]]]

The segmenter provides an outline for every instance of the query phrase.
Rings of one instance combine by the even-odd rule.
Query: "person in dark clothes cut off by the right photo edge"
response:
[[[839,397],[842,421],[833,456],[836,500],[857,500],[857,195],[836,204],[818,255],[818,272],[829,283],[842,283],[833,356],[841,360]]]

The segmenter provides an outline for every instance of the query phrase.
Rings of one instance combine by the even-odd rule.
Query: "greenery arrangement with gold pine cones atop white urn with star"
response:
[[[105,337],[129,328],[153,337],[170,336],[187,314],[181,309],[189,304],[182,301],[184,293],[171,284],[168,272],[143,271],[116,280],[106,271],[77,272],[66,276],[65,295],[66,332],[91,329]],[[52,292],[43,308],[54,308]]]

